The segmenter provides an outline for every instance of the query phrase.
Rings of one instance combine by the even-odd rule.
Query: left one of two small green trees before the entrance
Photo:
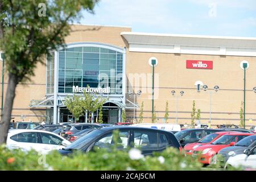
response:
[[[80,116],[84,115],[81,96],[74,95],[73,97],[67,97],[64,104],[75,118],[79,118]]]

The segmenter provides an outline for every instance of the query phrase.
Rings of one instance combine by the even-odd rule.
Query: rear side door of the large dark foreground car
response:
[[[170,146],[165,134],[149,130],[133,130],[132,143],[132,147],[139,148],[143,155],[152,155]]]

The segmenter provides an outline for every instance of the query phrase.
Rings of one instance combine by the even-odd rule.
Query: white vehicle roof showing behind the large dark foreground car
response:
[[[139,123],[134,124],[131,126],[137,126],[137,127],[149,127],[153,129],[159,129],[159,130],[165,130],[165,131],[180,131],[181,127],[177,124],[172,123]]]

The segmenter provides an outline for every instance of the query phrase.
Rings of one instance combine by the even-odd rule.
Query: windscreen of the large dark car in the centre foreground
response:
[[[90,132],[88,135],[85,135],[84,137],[81,137],[75,142],[69,144],[69,146],[65,147],[64,150],[81,150],[82,147],[84,147],[87,143],[89,143],[92,139],[98,137],[104,133],[102,130],[94,130]]]

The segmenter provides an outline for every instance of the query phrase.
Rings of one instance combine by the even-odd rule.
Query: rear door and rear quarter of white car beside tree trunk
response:
[[[40,150],[40,140],[36,132],[23,132],[10,137],[8,143],[10,149],[21,149],[28,151],[34,149]]]

